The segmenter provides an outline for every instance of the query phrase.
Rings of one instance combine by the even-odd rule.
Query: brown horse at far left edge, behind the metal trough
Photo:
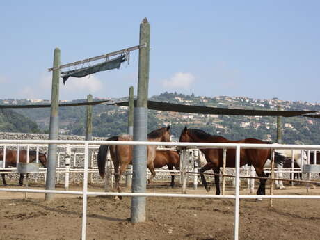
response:
[[[26,163],[26,150],[21,150],[19,152],[19,162],[20,163]],[[29,151],[29,162],[32,163],[33,161],[36,160],[37,157],[37,152],[36,151]],[[0,160],[3,161],[3,150],[0,151]],[[39,152],[39,161],[42,164],[42,166],[44,166],[45,168],[47,168],[47,156],[45,153],[40,153]],[[6,150],[6,164],[5,164],[5,168],[8,167],[17,167],[17,151],[15,150]],[[7,186],[7,182],[6,182],[6,174],[2,173],[1,177],[2,177],[2,182],[4,186]],[[24,182],[24,173],[20,174],[20,178],[19,178],[19,185],[22,186]]]

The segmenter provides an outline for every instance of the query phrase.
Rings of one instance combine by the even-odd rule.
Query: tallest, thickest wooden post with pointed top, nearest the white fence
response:
[[[138,99],[134,108],[134,141],[147,141],[147,92],[149,82],[150,24],[145,17],[140,24],[138,61]],[[132,192],[145,193],[147,187],[147,146],[135,145]],[[131,222],[145,221],[145,197],[131,198]]]

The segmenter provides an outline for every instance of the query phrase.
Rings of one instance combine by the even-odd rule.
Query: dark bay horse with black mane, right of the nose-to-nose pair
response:
[[[195,142],[195,143],[259,143],[266,144],[267,142],[261,141],[255,138],[246,138],[239,141],[230,141],[227,138],[222,136],[213,136],[207,134],[205,131],[199,129],[187,129],[186,127],[182,130],[180,135],[179,142]],[[201,149],[201,152],[205,154],[207,164],[200,169],[200,173],[205,172],[206,170],[213,169],[214,173],[214,182],[216,184],[216,195],[220,194],[220,185],[219,185],[219,173],[220,168],[223,166],[223,150],[207,148]],[[244,164],[253,165],[255,171],[259,177],[266,177],[264,174],[264,163],[266,160],[271,157],[271,150],[269,149],[241,149],[240,150],[240,166]],[[228,168],[235,167],[236,159],[236,150],[229,149],[227,150],[227,160],[226,166]],[[275,153],[275,162],[282,161],[282,158]],[[207,191],[210,191],[210,188],[207,184],[207,181],[204,175],[200,175],[202,179],[202,184],[205,186]],[[260,179],[260,186],[257,190],[257,195],[265,195],[266,193],[266,179]]]

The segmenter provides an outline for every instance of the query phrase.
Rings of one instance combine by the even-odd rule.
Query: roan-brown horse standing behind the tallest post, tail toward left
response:
[[[147,141],[169,142],[170,136],[170,126],[163,127],[147,134]],[[120,136],[113,136],[109,138],[108,141],[133,141],[133,137],[131,135],[124,134]],[[132,163],[133,145],[110,145],[110,147],[109,145],[100,145],[97,155],[97,165],[99,168],[99,174],[102,178],[104,178],[105,174],[106,156],[108,154],[109,148],[111,159],[113,161],[113,166],[115,169],[115,189],[117,189],[117,191],[120,193],[120,178],[122,176],[122,173],[125,172],[128,164]],[[154,171],[154,158],[156,157],[156,148],[156,145],[147,145],[147,168],[151,172],[148,183],[150,183],[152,178],[156,175],[156,172]]]

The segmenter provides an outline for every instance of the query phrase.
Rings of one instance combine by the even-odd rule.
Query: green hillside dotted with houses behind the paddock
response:
[[[123,101],[127,98],[112,99]],[[320,111],[320,104],[308,102],[282,101],[273,99],[250,99],[248,97],[201,97],[178,93],[162,93],[150,99],[160,102],[172,102],[198,106],[215,106],[233,109],[264,109],[275,110],[278,105],[284,110]],[[6,100],[8,103],[8,100]],[[30,101],[15,100],[17,104],[30,104]],[[22,103],[23,102],[23,103]],[[73,101],[73,102],[79,102]],[[10,103],[10,102],[9,102]],[[49,109],[17,109],[22,115],[37,122],[42,131],[49,129]],[[93,106],[93,136],[113,136],[127,131],[127,108],[100,104]],[[62,107],[59,110],[60,131],[63,134],[85,134],[86,107]],[[304,143],[319,144],[320,121],[313,118],[294,117],[282,118],[283,142],[287,144]],[[260,116],[203,115],[193,113],[174,113],[149,111],[148,129],[156,129],[163,125],[172,125],[175,138],[179,138],[182,128],[196,127],[210,134],[225,136],[230,139],[259,138],[275,141],[276,118]]]

